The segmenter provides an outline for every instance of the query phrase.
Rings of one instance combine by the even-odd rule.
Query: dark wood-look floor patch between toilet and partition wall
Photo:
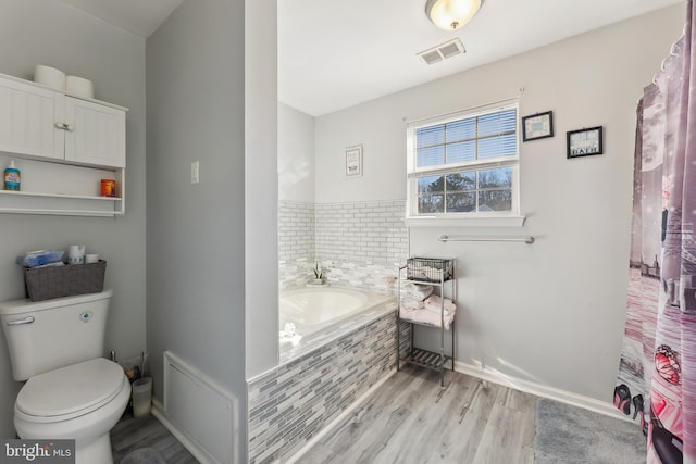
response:
[[[115,464],[130,451],[145,447],[158,450],[170,464],[198,463],[154,416],[134,418],[126,415],[111,429],[111,452]]]

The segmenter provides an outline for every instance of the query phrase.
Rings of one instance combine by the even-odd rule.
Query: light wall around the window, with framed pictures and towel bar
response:
[[[406,197],[403,120],[519,93],[552,110],[556,136],[521,145],[522,228],[411,228],[413,255],[456,256],[457,356],[469,367],[608,401],[625,317],[635,108],[685,17],[678,5],[387,96],[315,121],[316,202]],[[462,57],[460,59],[467,59]],[[602,125],[605,154],[566,159],[566,131]],[[344,176],[364,146],[364,175]],[[534,235],[522,243],[439,243],[440,234]],[[439,338],[420,330],[417,341]]]

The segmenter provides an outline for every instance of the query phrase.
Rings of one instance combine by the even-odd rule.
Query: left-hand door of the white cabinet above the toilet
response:
[[[62,160],[63,103],[60,92],[0,78],[0,151]]]

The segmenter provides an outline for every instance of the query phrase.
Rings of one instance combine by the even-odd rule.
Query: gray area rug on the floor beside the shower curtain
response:
[[[543,398],[536,403],[535,464],[638,464],[646,441],[635,424]]]

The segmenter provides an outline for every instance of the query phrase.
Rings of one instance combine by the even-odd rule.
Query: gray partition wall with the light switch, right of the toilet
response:
[[[187,0],[148,38],[147,104],[154,396],[164,350],[213,378],[239,400],[245,462],[244,0]]]

